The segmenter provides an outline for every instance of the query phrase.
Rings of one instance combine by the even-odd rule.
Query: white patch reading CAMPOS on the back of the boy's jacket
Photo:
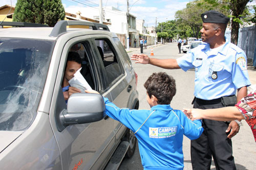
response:
[[[175,136],[177,132],[176,127],[164,127],[164,128],[149,128],[149,136],[150,138],[166,138]]]

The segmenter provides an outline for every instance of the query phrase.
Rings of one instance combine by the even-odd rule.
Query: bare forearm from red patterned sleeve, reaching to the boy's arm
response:
[[[230,121],[237,119],[245,119],[243,114],[235,107],[223,107],[217,109],[184,109],[183,112],[191,120],[195,119],[211,119],[219,121]]]

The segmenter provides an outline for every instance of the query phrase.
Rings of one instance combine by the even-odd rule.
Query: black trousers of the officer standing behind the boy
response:
[[[196,99],[194,108],[211,109],[223,107],[221,99],[205,101]],[[229,123],[216,120],[202,120],[204,131],[195,140],[191,140],[191,162],[194,170],[209,170],[211,156],[214,158],[216,169],[236,169],[232,156],[232,142],[227,138],[226,129]]]

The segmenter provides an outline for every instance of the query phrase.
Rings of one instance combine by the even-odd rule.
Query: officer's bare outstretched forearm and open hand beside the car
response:
[[[152,64],[165,69],[180,68],[176,59],[156,59],[156,58],[150,58],[145,54],[133,54],[131,56],[131,59],[135,60],[136,61],[135,63]]]

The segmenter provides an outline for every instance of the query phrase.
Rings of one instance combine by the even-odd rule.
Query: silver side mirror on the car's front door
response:
[[[74,93],[66,105],[62,88],[59,87],[55,108],[55,122],[59,132],[69,125],[86,124],[101,120],[105,112],[102,95],[92,93]]]

